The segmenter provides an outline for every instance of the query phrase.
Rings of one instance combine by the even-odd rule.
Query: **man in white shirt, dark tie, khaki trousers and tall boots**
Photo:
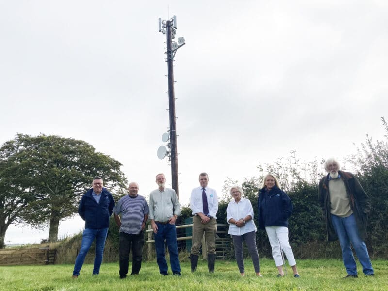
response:
[[[217,231],[218,197],[214,189],[208,187],[209,176],[199,174],[200,187],[194,188],[190,196],[190,209],[193,216],[193,242],[190,252],[191,271],[196,270],[202,236],[205,233],[208,250],[208,269],[214,272],[215,263],[215,235]]]

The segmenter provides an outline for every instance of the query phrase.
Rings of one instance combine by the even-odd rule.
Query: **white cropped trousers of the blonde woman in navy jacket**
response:
[[[272,247],[272,257],[275,260],[276,267],[283,265],[281,250],[286,255],[289,265],[296,265],[292,248],[288,242],[288,228],[285,226],[265,226],[265,231],[267,231]]]

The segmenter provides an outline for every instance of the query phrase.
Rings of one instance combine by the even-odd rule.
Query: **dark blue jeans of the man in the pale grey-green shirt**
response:
[[[167,274],[168,266],[166,261],[164,239],[167,243],[168,252],[170,254],[171,271],[173,274],[180,273],[180,263],[178,256],[177,231],[175,225],[156,223],[158,233],[154,233],[156,262],[159,266],[161,274]]]

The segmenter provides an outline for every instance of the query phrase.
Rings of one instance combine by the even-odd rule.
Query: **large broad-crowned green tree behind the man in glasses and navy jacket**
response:
[[[24,173],[24,186],[31,189],[33,200],[18,213],[20,221],[37,227],[49,222],[49,242],[57,240],[59,222],[77,212],[94,176],[102,177],[113,193],[125,189],[121,163],[82,140],[17,134],[2,151],[8,151],[7,162]]]

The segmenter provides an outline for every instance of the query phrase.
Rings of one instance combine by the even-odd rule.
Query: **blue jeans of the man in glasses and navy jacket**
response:
[[[81,249],[78,253],[76,263],[74,264],[73,275],[80,275],[80,271],[88,253],[92,242],[96,238],[96,257],[94,259],[93,275],[97,275],[100,272],[100,266],[102,263],[102,255],[104,253],[105,239],[108,234],[108,228],[91,229],[85,228],[82,235]]]

